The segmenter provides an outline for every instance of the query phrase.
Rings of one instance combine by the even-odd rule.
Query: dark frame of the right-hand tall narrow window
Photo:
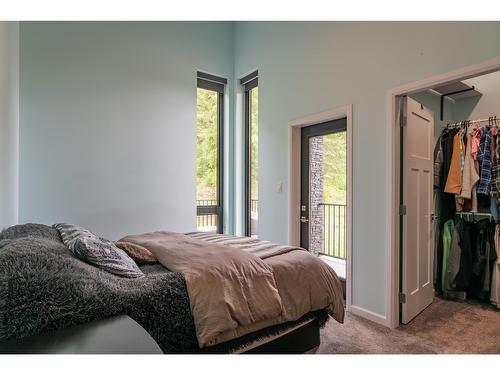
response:
[[[254,71],[245,77],[240,79],[240,84],[243,85],[245,92],[244,101],[244,116],[245,116],[245,129],[244,129],[244,149],[245,149],[245,180],[244,180],[244,201],[245,208],[243,210],[244,226],[245,226],[245,236],[251,236],[251,158],[252,158],[252,148],[250,145],[251,141],[251,117],[252,117],[252,95],[251,91],[259,86],[259,73]]]

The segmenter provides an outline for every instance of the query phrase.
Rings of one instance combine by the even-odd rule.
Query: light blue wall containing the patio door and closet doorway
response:
[[[277,23],[235,26],[235,78],[259,69],[259,230],[287,242],[287,123],[353,104],[353,304],[386,306],[387,91],[500,56],[500,23]],[[238,199],[238,198],[236,198]]]

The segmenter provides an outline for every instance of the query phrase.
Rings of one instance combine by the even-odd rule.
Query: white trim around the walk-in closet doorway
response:
[[[386,155],[389,171],[389,180],[387,181],[387,219],[390,225],[387,226],[389,251],[387,253],[386,325],[391,328],[396,328],[399,325],[399,126],[397,124],[396,113],[397,97],[498,70],[500,70],[500,58],[495,58],[480,64],[452,70],[448,73],[395,87],[387,92],[387,135],[389,138],[389,147],[387,147]]]

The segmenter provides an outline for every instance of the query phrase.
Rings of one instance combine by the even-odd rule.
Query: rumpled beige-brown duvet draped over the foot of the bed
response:
[[[327,309],[344,319],[335,272],[305,250],[261,259],[234,247],[179,233],[153,232],[122,238],[151,251],[187,285],[200,347],[243,336]]]

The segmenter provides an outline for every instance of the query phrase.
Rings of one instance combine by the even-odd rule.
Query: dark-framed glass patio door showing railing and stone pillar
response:
[[[302,128],[301,246],[347,255],[347,120]]]

